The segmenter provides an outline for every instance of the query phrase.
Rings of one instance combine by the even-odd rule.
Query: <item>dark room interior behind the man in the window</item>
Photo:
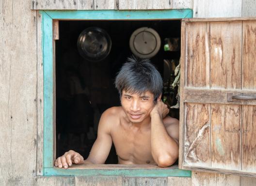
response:
[[[77,49],[80,32],[88,27],[100,27],[112,39],[112,49],[100,62],[84,60]],[[104,110],[120,106],[114,87],[114,78],[126,59],[132,55],[129,39],[140,27],[156,30],[161,47],[151,62],[164,79],[164,99],[168,105],[176,104],[177,89],[171,89],[174,72],[168,81],[164,77],[164,59],[178,64],[180,51],[164,51],[165,38],[180,38],[180,20],[120,20],[120,21],[59,21],[60,38],[56,40],[56,156],[72,149],[87,158],[96,140],[97,125]],[[170,109],[169,115],[179,118],[179,109]],[[106,164],[116,164],[114,147]]]

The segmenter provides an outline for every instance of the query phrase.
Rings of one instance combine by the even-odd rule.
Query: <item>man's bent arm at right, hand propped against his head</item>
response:
[[[151,153],[159,167],[168,167],[178,158],[178,120],[168,117],[163,119],[169,109],[158,101],[151,111]]]

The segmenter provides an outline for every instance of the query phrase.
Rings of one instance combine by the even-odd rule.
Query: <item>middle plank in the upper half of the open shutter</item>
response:
[[[210,23],[212,89],[241,89],[242,22]]]

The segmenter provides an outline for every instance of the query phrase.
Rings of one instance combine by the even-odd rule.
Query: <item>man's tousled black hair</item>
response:
[[[128,58],[115,78],[115,87],[120,93],[138,93],[146,91],[154,94],[154,101],[162,93],[163,82],[160,73],[149,59]]]

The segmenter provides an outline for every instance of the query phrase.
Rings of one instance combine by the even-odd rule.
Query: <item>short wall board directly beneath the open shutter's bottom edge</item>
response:
[[[240,186],[240,176],[192,171],[192,186]]]

